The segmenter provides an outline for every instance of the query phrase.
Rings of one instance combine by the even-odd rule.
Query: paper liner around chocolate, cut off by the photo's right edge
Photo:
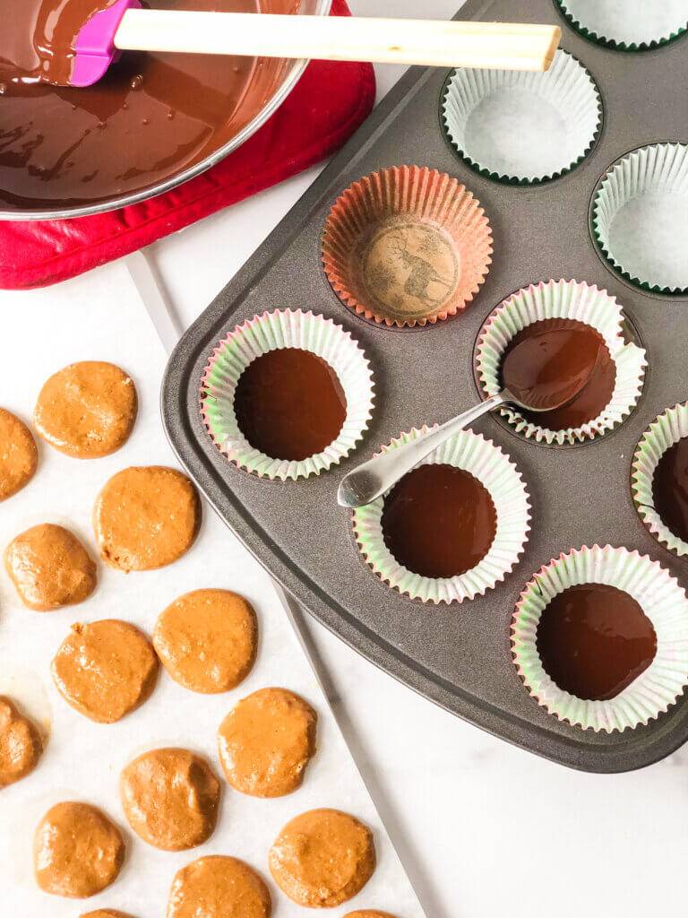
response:
[[[654,506],[652,484],[661,457],[683,437],[688,437],[688,402],[674,405],[652,421],[638,442],[631,467],[631,492],[640,519],[658,542],[679,556],[688,554],[688,543],[662,521]]]

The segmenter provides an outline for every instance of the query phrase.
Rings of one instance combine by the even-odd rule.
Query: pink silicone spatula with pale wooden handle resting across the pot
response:
[[[81,28],[70,84],[96,83],[123,50],[547,70],[557,26],[142,9],[116,0]]]

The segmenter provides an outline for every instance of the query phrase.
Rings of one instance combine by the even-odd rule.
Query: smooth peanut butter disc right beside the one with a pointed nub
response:
[[[234,689],[256,658],[256,613],[227,589],[195,589],[161,612],[153,645],[184,689],[208,694]]]

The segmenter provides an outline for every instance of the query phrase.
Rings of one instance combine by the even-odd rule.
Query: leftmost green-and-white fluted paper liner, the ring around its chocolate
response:
[[[322,357],[338,375],[347,399],[337,439],[322,453],[302,460],[276,459],[255,449],[239,430],[234,412],[234,394],[246,367],[261,354],[286,347]],[[254,316],[219,342],[205,367],[201,396],[205,427],[230,462],[261,477],[307,478],[337,465],[361,440],[372,414],[372,371],[358,342],[332,319],[278,309]]]

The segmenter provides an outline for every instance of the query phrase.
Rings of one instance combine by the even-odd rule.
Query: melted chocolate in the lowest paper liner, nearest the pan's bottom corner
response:
[[[657,634],[635,599],[616,587],[583,584],[542,612],[537,647],[549,677],[576,698],[605,701],[644,672]]]

